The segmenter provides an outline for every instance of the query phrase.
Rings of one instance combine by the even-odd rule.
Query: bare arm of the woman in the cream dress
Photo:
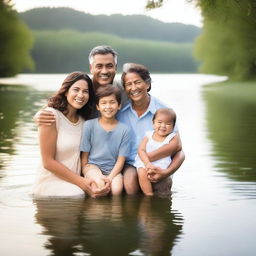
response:
[[[82,190],[88,190],[85,179],[55,159],[57,130],[56,125],[39,126],[39,143],[44,168],[54,173],[60,179],[77,185]]]

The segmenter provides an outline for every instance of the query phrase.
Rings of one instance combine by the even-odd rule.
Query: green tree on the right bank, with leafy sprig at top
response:
[[[188,1],[198,6],[203,16],[203,32],[195,43],[200,71],[235,80],[255,79],[256,0]],[[163,1],[147,2],[154,7]]]

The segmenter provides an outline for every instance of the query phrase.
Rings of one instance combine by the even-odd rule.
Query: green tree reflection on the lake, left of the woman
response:
[[[32,116],[43,105],[49,93],[27,86],[0,84],[0,168],[20,140],[20,128],[31,123]],[[42,100],[43,99],[43,100]]]

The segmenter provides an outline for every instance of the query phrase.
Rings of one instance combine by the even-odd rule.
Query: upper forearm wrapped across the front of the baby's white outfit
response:
[[[169,144],[166,144],[157,150],[148,152],[148,158],[150,162],[162,159],[167,156],[173,156],[177,152],[182,150],[181,140],[179,133],[176,133],[176,135],[171,139]]]

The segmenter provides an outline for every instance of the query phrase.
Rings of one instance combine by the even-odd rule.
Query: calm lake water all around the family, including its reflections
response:
[[[223,77],[154,74],[186,154],[171,198],[33,200],[32,116],[64,77],[0,79],[0,255],[256,255],[256,96],[203,87]]]

